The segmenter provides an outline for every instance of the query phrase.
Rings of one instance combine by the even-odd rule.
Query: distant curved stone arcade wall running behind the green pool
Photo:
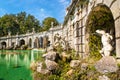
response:
[[[11,36],[8,35],[7,37],[0,37],[0,48],[3,46],[2,43],[5,42],[6,46],[5,48],[13,46],[12,43],[15,45],[20,45],[20,41],[23,40],[25,42],[25,45],[28,45],[29,48],[37,48],[40,47],[40,42],[44,41],[43,38],[47,37],[48,41],[50,41],[50,44],[53,44],[54,36],[59,33],[62,34],[62,27],[58,26],[56,28],[51,28],[47,32],[40,32],[40,33],[26,33],[22,35],[16,35]],[[41,40],[42,38],[42,40]],[[30,42],[31,39],[31,42]],[[37,46],[35,46],[35,43]],[[43,45],[43,43],[41,43]],[[31,45],[31,46],[29,46]]]

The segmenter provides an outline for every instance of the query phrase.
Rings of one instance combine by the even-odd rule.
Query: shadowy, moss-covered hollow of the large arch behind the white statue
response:
[[[85,29],[86,53],[91,53],[95,57],[99,57],[101,49],[101,39],[95,31],[97,29],[105,30],[114,37],[115,42],[115,23],[110,8],[104,4],[98,4],[90,11]],[[115,43],[113,43],[115,46]]]

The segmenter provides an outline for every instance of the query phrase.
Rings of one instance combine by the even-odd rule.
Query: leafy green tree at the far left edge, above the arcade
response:
[[[0,36],[7,35],[8,31],[11,31],[13,35],[16,34],[16,32],[19,30],[19,26],[16,23],[16,16],[13,14],[6,14],[3,17],[1,17],[0,28],[2,29],[2,34]]]

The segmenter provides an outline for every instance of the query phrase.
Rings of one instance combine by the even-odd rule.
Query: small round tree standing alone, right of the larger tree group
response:
[[[57,26],[59,24],[59,22],[55,18],[47,17],[42,22],[44,31],[49,30],[51,28],[51,22],[53,22],[53,26]]]

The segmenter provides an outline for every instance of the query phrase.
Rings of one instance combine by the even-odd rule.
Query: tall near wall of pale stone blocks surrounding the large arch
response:
[[[72,1],[74,2],[75,0]],[[109,9],[113,14],[114,23],[115,23],[116,55],[119,58],[120,57],[120,0],[89,0],[88,6],[81,9],[82,11],[79,13],[79,15],[76,11],[74,14],[72,14],[74,15],[74,19],[72,21],[70,20],[71,19],[70,17],[68,18],[67,23],[64,26],[65,29],[63,32],[64,34],[67,34],[66,37],[68,38],[71,47],[73,47],[77,51],[77,53],[80,53],[81,56],[85,56],[87,49],[86,47],[87,40],[85,38],[86,21],[92,9],[99,4],[103,4],[109,7]],[[77,7],[75,8],[77,9]],[[71,7],[70,9],[72,10],[73,8]],[[70,9],[68,10],[68,12],[70,11]]]

